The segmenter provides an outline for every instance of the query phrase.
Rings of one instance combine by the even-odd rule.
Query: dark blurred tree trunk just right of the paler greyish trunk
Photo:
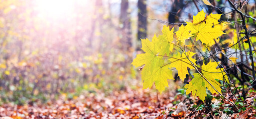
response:
[[[147,32],[147,10],[146,10],[146,0],[138,0],[138,35],[137,39],[146,38]]]

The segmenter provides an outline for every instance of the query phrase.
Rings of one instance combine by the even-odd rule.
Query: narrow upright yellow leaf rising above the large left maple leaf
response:
[[[173,29],[171,29],[169,26],[163,26],[162,34],[158,37],[159,39],[159,45],[161,46],[161,50],[159,55],[169,55],[170,52],[172,52],[173,44],[171,43],[173,41]]]

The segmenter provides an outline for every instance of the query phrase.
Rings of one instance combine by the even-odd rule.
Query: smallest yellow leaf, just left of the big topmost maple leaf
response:
[[[189,31],[190,30],[187,29],[187,27],[184,27],[183,24],[181,24],[181,26],[179,27],[179,30],[175,32],[178,38],[176,41],[180,40],[180,42],[185,43],[186,39],[193,36]]]

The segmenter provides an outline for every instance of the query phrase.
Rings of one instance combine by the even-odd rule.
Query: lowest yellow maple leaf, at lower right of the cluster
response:
[[[202,74],[204,77],[214,86],[214,88],[221,93],[221,84],[216,79],[222,80],[225,72],[221,72],[222,69],[216,67],[216,62],[209,62],[207,65],[202,65]],[[194,78],[186,84],[184,87],[187,88],[186,94],[192,92],[192,95],[198,96],[202,101],[205,100],[206,87],[211,93],[217,93],[216,90],[199,74],[194,73]]]

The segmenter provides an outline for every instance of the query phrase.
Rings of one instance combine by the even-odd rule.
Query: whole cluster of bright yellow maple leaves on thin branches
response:
[[[151,88],[155,83],[155,87],[160,93],[168,87],[167,79],[173,79],[171,69],[176,68],[180,79],[184,80],[186,74],[189,74],[188,68],[198,69],[196,67],[196,60],[192,58],[196,53],[185,52],[175,41],[185,44],[185,40],[194,36],[195,41],[200,40],[207,45],[215,44],[215,40],[224,34],[221,27],[218,26],[218,20],[221,14],[206,15],[202,10],[193,17],[192,22],[187,22],[187,25],[181,25],[176,33],[177,39],[174,40],[174,29],[169,26],[163,26],[162,35],[152,38],[150,42],[148,39],[141,39],[142,50],[144,54],[139,54],[131,63],[135,67],[143,66],[141,71],[141,78],[143,81],[143,89]],[[173,49],[178,51],[173,53]],[[177,48],[176,48],[177,47]],[[179,49],[178,49],[179,48]],[[193,48],[193,47],[192,47]],[[171,53],[171,54],[170,54]],[[218,92],[221,92],[220,83],[216,79],[222,80],[225,72],[216,69],[217,62],[209,62],[202,66],[202,75],[209,80],[212,86]],[[185,86],[187,94],[192,92],[192,95],[199,96],[204,100],[206,96],[206,87],[212,93],[216,90],[204,79],[199,73],[194,73],[194,78]]]

